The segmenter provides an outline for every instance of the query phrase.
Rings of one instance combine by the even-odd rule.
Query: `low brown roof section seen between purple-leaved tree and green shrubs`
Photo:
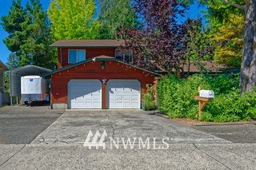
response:
[[[184,72],[190,71],[191,73],[196,73],[202,71],[202,69],[210,70],[212,72],[221,72],[223,69],[227,69],[228,67],[223,64],[218,64],[214,61],[186,61],[182,63],[182,68]],[[189,69],[190,68],[190,69]]]

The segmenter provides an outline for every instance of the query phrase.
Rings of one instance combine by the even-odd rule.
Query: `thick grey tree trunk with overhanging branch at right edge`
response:
[[[199,1],[206,2],[206,4],[226,2],[227,5],[244,12],[244,43],[242,48],[240,89],[242,93],[245,91],[252,92],[256,85],[256,0]],[[223,9],[225,10],[225,8],[219,6],[218,12],[221,14],[220,11]]]

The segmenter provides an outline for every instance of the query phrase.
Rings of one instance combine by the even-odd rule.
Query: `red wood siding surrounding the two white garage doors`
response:
[[[154,74],[134,69],[117,61],[106,61],[105,69],[100,61],[91,61],[72,69],[52,75],[51,102],[67,103],[67,84],[71,79],[136,79],[141,82],[142,93],[146,92],[146,84],[154,84]],[[142,97],[141,97],[142,98]],[[106,87],[102,87],[102,108],[106,109]]]

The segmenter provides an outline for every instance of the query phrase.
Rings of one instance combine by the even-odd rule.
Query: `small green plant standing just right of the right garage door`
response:
[[[154,87],[152,85],[146,85],[146,93],[143,94],[143,109],[155,110],[156,104],[154,102]]]

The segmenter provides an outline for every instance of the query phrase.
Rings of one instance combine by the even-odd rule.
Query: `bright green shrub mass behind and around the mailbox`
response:
[[[214,90],[214,100],[202,112],[202,121],[249,121],[256,118],[256,91],[240,95],[239,76],[194,75],[187,79],[164,77],[158,83],[160,110],[170,117],[198,118],[198,86]]]

